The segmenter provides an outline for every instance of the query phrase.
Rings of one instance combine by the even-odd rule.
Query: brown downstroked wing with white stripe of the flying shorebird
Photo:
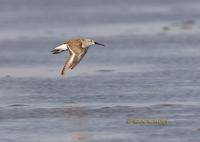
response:
[[[67,71],[72,70],[81,61],[85,53],[86,51],[83,52],[82,54],[77,54],[76,52],[74,52],[72,49],[69,48],[70,56],[65,61],[61,75],[64,75]]]

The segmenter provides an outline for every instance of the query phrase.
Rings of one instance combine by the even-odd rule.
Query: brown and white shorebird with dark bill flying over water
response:
[[[65,72],[72,70],[84,57],[88,48],[92,45],[101,45],[101,43],[96,42],[93,39],[72,39],[64,42],[60,46],[54,48],[51,52],[52,54],[59,54],[63,51],[69,51],[69,57],[65,61],[64,67],[62,69],[61,75],[64,75]]]

